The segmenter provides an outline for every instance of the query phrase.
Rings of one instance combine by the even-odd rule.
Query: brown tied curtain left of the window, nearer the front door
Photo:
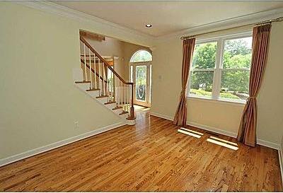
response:
[[[190,62],[195,49],[195,38],[183,40],[183,66],[182,66],[182,91],[180,102],[175,112],[173,123],[185,126],[187,122],[187,79],[190,72]]]

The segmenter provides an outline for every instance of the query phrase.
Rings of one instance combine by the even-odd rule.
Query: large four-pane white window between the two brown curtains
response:
[[[245,103],[251,52],[250,33],[198,41],[190,67],[189,96]]]

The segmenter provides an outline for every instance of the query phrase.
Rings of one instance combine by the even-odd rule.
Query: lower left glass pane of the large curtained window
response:
[[[213,71],[192,71],[190,76],[190,94],[211,97]]]

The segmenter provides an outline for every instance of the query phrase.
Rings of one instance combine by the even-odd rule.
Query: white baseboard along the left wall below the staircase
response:
[[[121,127],[121,126],[124,126],[126,123],[125,122],[119,122],[117,124],[111,124],[111,125],[108,125],[106,127],[102,127],[100,129],[96,129],[96,130],[93,130],[93,131],[88,131],[84,134],[80,134],[78,136],[72,136],[68,139],[63,139],[62,141],[57,141],[57,142],[54,142],[52,144],[48,144],[47,146],[42,146],[42,147],[39,147],[39,148],[34,148],[32,150],[29,150],[29,151],[25,151],[23,153],[19,153],[19,154],[16,154],[14,156],[10,156],[8,158],[2,158],[0,159],[0,167],[3,166],[3,165],[7,165],[9,163],[13,163],[17,160],[22,160],[24,158],[28,158],[30,156],[35,156],[39,153],[43,153],[45,151],[50,151],[54,148],[59,148],[61,146],[65,146],[67,144],[71,144],[75,141],[79,141],[81,139],[85,139],[85,138],[88,138],[90,136],[94,136],[96,134],[101,134],[105,131],[109,131],[111,129],[115,129],[117,127]]]

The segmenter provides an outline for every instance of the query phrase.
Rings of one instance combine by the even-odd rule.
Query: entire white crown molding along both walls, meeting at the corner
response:
[[[154,43],[168,41],[169,39],[179,38],[183,35],[193,35],[194,33],[205,33],[211,30],[222,30],[225,28],[233,28],[241,25],[258,23],[260,21],[270,20],[272,18],[277,18],[283,16],[283,8],[272,9],[270,11],[262,11],[258,13],[251,13],[246,16],[239,16],[235,18],[229,18],[222,21],[216,21],[214,23],[207,23],[204,25],[198,25],[193,28],[187,28],[185,30],[179,30],[175,33],[170,33],[168,35],[162,36],[152,36],[146,33],[141,33],[138,30],[133,30],[131,28],[127,28],[122,25],[118,25],[116,23],[112,23],[110,21],[106,21],[102,18],[98,18],[96,16],[91,16],[86,13],[82,13],[81,11],[76,11],[71,8],[67,8],[65,6],[61,6],[59,4],[54,4],[50,1],[17,1],[18,4],[22,4],[24,6],[28,6],[30,8],[36,8],[48,13],[55,14],[57,16],[62,16],[65,18],[70,18],[75,21],[92,23],[100,25],[105,25],[108,28],[116,28],[121,30],[123,33],[128,33],[130,35],[141,37],[148,42]],[[151,45],[152,46],[152,45]]]

